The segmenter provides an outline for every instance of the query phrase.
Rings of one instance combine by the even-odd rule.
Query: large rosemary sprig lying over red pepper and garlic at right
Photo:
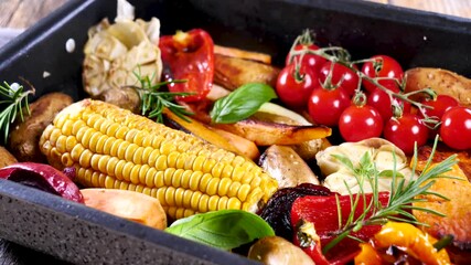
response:
[[[442,213],[416,206],[413,203],[424,201],[420,199],[422,195],[435,195],[445,200],[448,200],[440,193],[430,191],[430,187],[436,182],[438,178],[453,178],[445,177],[443,173],[451,170],[451,167],[458,162],[457,156],[450,156],[440,163],[431,167],[431,161],[433,158],[435,150],[437,149],[438,138],[436,138],[432,152],[427,160],[424,171],[418,178],[414,178],[414,174],[409,176],[408,179],[397,172],[396,168],[396,157],[394,156],[394,168],[387,174],[390,174],[392,183],[389,190],[389,200],[386,206],[383,206],[379,202],[379,191],[378,191],[378,179],[382,177],[382,172],[378,172],[376,165],[371,158],[370,153],[366,152],[358,166],[355,168],[352,161],[344,156],[335,156],[341,163],[349,168],[353,176],[356,178],[356,181],[360,186],[360,192],[356,197],[351,192],[349,186],[345,182],[345,186],[350,193],[351,199],[351,211],[345,223],[342,223],[341,205],[340,200],[338,199],[338,211],[339,211],[339,230],[335,232],[336,237],[327,244],[322,252],[325,253],[335,246],[345,237],[355,239],[351,235],[352,232],[360,231],[365,225],[373,224],[385,224],[387,221],[399,221],[408,222],[413,224],[426,225],[420,223],[416,216],[414,216],[410,211],[422,211],[438,216],[443,216]],[[413,158],[413,172],[415,172],[417,165],[417,148]],[[363,184],[367,181],[372,187],[372,200],[367,203],[366,193],[363,190]],[[407,181],[407,182],[406,182]],[[358,205],[363,205],[363,213],[355,218],[355,212]],[[367,216],[371,214],[370,216]],[[358,239],[356,239],[358,240]]]

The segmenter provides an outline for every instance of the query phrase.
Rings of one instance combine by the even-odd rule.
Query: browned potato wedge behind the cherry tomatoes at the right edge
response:
[[[406,76],[406,92],[430,87],[441,95],[457,98],[462,106],[471,107],[471,80],[457,73],[441,68],[418,67],[408,70]],[[425,95],[413,97],[419,100]]]

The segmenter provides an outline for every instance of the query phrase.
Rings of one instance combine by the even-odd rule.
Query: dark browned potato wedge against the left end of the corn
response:
[[[11,153],[19,161],[46,162],[40,150],[40,137],[55,115],[72,103],[72,97],[63,93],[46,94],[32,103],[31,115],[12,127],[9,139]]]

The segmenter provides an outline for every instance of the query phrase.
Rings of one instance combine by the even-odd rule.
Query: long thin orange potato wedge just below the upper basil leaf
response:
[[[257,146],[299,145],[313,139],[321,139],[332,134],[325,126],[298,126],[244,119],[235,124],[217,124],[216,128],[242,136]]]

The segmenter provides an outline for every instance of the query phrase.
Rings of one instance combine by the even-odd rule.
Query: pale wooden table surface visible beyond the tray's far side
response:
[[[1,0],[0,28],[25,29],[67,0]],[[471,0],[372,0],[471,19]]]

